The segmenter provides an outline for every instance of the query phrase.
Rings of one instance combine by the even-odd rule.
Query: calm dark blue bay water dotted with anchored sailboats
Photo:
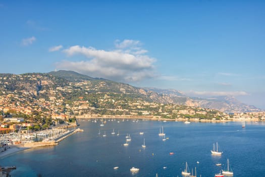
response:
[[[227,169],[229,159],[234,177],[265,176],[265,122],[246,122],[242,128],[241,122],[104,120],[107,123],[102,126],[100,119],[96,122],[81,119],[83,132],[68,137],[58,146],[33,148],[3,157],[0,165],[15,165],[17,169],[10,175],[27,177],[182,176],[187,162],[194,175],[196,167],[197,176],[214,177],[221,169]],[[162,127],[166,141],[158,136]],[[131,141],[124,146],[127,134]],[[222,155],[210,152],[217,142]],[[119,168],[114,169],[116,166]],[[139,171],[131,172],[132,167]]]

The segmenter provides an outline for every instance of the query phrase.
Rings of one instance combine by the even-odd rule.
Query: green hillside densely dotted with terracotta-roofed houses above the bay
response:
[[[265,112],[226,114],[215,109],[155,103],[145,97],[102,92],[105,81],[70,82],[49,74],[2,74],[0,113],[2,131],[21,127],[40,130],[69,124],[76,118],[141,117],[190,121],[261,121]],[[144,91],[141,91],[144,92]],[[143,95],[144,96],[144,95]]]

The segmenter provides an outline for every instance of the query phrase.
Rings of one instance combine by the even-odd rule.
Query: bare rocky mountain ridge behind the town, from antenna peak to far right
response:
[[[103,78],[92,78],[74,71],[57,71],[49,72],[49,74],[53,76],[63,77],[66,80],[72,82],[88,80],[91,82],[91,90],[95,90],[97,92],[136,94],[139,95],[139,97],[145,97],[146,100],[158,103],[217,109],[222,112],[261,111],[255,106],[249,106],[241,103],[231,96],[203,99],[189,97],[181,91],[174,89],[158,89],[153,87],[139,88],[126,83],[115,82]]]

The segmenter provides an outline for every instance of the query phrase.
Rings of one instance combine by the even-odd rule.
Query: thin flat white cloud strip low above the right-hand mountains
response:
[[[186,92],[186,94],[188,95],[193,95],[193,96],[246,96],[248,95],[246,92],[244,91],[237,91],[237,92],[219,92],[219,91],[214,91],[214,92],[210,92],[210,91],[204,91],[204,92],[200,92],[200,91],[189,91]]]

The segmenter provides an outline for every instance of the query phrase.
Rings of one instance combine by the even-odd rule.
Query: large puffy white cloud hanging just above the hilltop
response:
[[[139,47],[140,41],[115,41],[115,50],[97,50],[93,47],[72,46],[63,52],[69,57],[83,55],[87,60],[62,61],[57,68],[75,70],[92,77],[103,77],[117,81],[139,81],[154,77],[155,59]],[[144,51],[144,52],[142,52]],[[136,54],[137,53],[137,54]]]

